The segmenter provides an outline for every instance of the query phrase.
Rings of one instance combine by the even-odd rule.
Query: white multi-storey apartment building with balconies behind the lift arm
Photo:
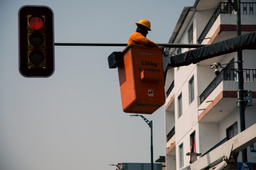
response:
[[[242,34],[256,30],[256,1],[241,0]],[[196,0],[184,7],[169,43],[212,44],[235,37],[236,12],[226,1]],[[179,54],[187,48],[170,48]],[[244,89],[256,101],[255,50],[243,50]],[[220,69],[218,76],[210,64],[220,62],[237,69],[237,53],[230,53],[189,66],[168,70],[165,83],[166,168],[190,165],[187,152],[204,155],[240,133],[237,105],[238,76]],[[224,67],[225,67],[224,66]],[[245,110],[246,128],[256,123],[256,102]],[[192,148],[194,143],[194,147]],[[194,150],[193,150],[194,149]],[[256,162],[256,143],[247,148],[248,162]],[[238,161],[242,162],[242,154]]]

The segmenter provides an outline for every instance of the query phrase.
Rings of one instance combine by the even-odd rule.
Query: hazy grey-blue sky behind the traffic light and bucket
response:
[[[147,38],[168,43],[192,0],[1,0],[0,169],[115,169],[150,163],[150,128],[122,110],[117,69],[107,57],[125,47],[55,46],[55,72],[25,78],[18,70],[18,10],[54,12],[55,43],[127,43],[135,22],[148,19]],[[165,155],[164,106],[152,115],[154,161]]]

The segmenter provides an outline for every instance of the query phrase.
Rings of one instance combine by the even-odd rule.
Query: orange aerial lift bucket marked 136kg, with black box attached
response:
[[[130,44],[108,57],[109,68],[118,66],[124,112],[152,114],[165,103],[162,53],[160,47]]]

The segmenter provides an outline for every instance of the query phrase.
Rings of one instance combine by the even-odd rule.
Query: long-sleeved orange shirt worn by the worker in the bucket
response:
[[[138,45],[145,45],[148,47],[157,47],[158,45],[154,43],[153,41],[150,41],[146,37],[144,37],[141,33],[139,32],[133,32],[128,40],[128,44],[138,44]]]

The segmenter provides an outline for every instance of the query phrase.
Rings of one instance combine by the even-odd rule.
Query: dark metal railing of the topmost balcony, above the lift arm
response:
[[[241,14],[255,14],[256,13],[256,3],[249,3],[244,2],[240,3],[241,6]],[[220,3],[219,6],[216,8],[215,12],[213,13],[212,17],[210,18],[209,22],[206,24],[205,29],[201,33],[198,38],[198,43],[201,44],[203,38],[207,35],[209,30],[212,28],[214,22],[218,18],[220,14],[236,14],[234,8],[230,3]]]

